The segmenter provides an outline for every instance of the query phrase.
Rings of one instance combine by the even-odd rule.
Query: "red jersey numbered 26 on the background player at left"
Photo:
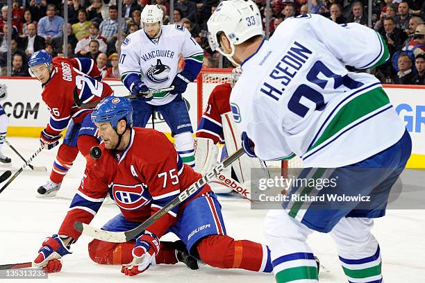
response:
[[[106,83],[93,77],[100,76],[94,60],[90,58],[53,58],[53,71],[43,86],[42,99],[51,114],[47,132],[58,135],[67,128],[69,119],[79,123],[92,112],[78,108],[74,101],[74,89],[83,103],[101,101],[113,94]]]

